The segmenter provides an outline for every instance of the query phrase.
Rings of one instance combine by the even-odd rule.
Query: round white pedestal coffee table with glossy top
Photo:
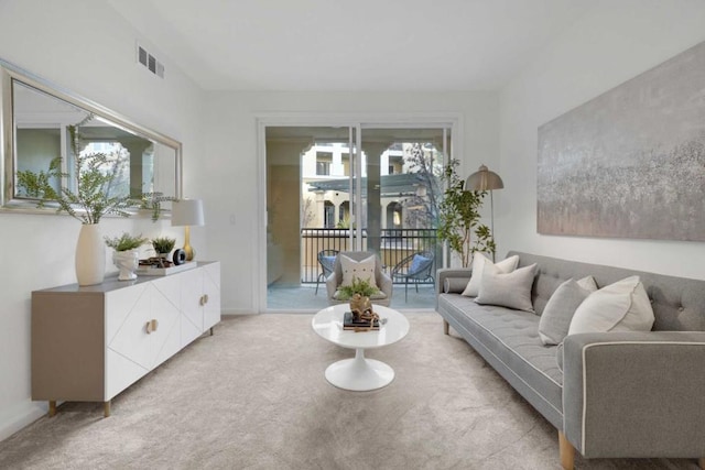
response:
[[[394,343],[409,332],[409,320],[399,311],[375,305],[382,324],[378,331],[347,331],[343,329],[343,315],[348,304],[334,305],[318,311],[312,320],[314,331],[324,339],[355,349],[355,359],[344,359],[326,369],[326,380],[338,389],[362,392],[381,389],[394,379],[394,370],[381,361],[366,359],[365,350]]]

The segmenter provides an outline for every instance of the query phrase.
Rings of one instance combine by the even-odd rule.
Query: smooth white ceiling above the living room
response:
[[[203,89],[288,91],[498,89],[592,2],[107,1]]]

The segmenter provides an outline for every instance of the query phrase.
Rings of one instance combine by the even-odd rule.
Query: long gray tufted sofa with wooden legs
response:
[[[705,281],[513,254],[518,267],[538,265],[535,314],[462,296],[469,269],[438,271],[436,310],[446,334],[457,331],[555,426],[563,468],[573,468],[577,450],[584,458],[694,458],[705,469]],[[553,292],[568,278],[592,275],[601,288],[634,274],[651,300],[652,330],[570,335],[561,371],[557,347],[538,332]]]

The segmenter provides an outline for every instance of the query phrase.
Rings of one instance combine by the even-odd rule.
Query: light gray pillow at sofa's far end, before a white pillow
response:
[[[506,274],[494,264],[487,263],[482,270],[480,292],[475,302],[533,311],[531,286],[535,275],[535,263]]]

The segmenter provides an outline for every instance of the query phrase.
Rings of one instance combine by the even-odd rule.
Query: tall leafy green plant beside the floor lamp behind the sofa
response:
[[[491,230],[480,220],[480,207],[487,192],[465,190],[465,181],[456,171],[459,162],[452,160],[444,168],[446,189],[438,206],[438,238],[447,241],[452,251],[467,267],[473,253],[495,253],[497,245]],[[475,241],[473,241],[475,234]]]

